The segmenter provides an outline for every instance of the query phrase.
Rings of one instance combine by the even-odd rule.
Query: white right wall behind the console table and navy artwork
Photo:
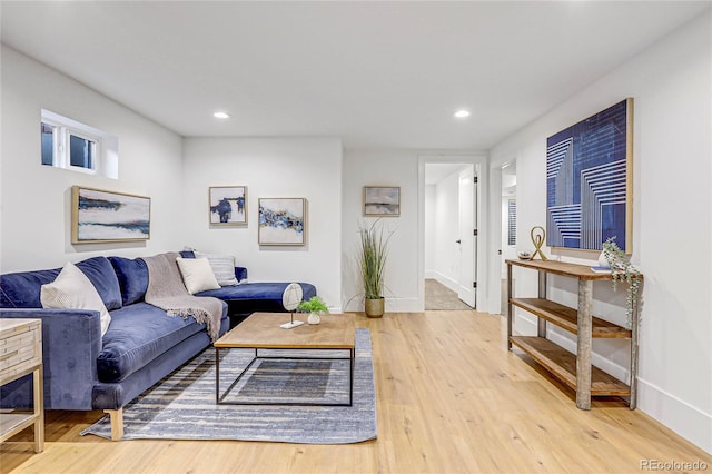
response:
[[[708,11],[508,137],[491,156],[494,164],[518,156],[523,243],[532,226],[545,223],[546,137],[634,98],[632,261],[645,275],[639,407],[712,453],[711,22]],[[595,255],[560,257],[593,263]],[[532,274],[517,271],[520,294],[536,295]],[[557,297],[573,296],[566,284],[554,286]],[[596,352],[617,364],[615,347]]]

